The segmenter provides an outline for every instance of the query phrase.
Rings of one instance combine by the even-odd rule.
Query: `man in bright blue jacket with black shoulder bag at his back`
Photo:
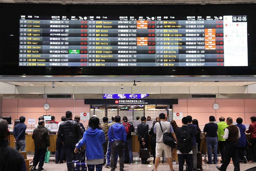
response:
[[[111,143],[111,158],[110,158],[110,167],[111,171],[115,170],[115,156],[116,150],[114,148],[114,139],[126,141],[126,130],[123,125],[120,124],[121,117],[115,116],[115,124],[111,125],[108,131],[109,142]],[[113,135],[112,135],[113,130]],[[120,171],[124,171],[124,150],[117,150],[119,155],[119,164]]]

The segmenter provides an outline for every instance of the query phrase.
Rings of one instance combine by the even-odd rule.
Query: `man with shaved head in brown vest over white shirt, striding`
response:
[[[240,130],[236,125],[233,125],[233,119],[227,118],[228,127],[225,128],[224,135],[222,137],[226,140],[225,146],[225,160],[221,167],[216,166],[218,170],[226,171],[232,158],[234,171],[240,171],[239,155],[238,155],[238,138],[240,138]]]

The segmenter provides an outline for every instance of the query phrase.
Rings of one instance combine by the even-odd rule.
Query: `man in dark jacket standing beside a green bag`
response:
[[[45,121],[39,120],[38,127],[34,129],[32,139],[35,143],[35,155],[33,160],[35,161],[33,166],[37,166],[37,170],[44,170],[44,160],[46,148],[50,146],[50,139],[47,129],[45,128]],[[36,169],[36,167],[34,167]]]

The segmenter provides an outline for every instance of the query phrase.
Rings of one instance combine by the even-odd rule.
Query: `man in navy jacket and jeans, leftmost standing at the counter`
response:
[[[25,131],[27,126],[24,124],[26,118],[25,116],[19,117],[20,123],[17,124],[13,129],[13,136],[15,138],[15,149],[19,151],[26,151],[26,140],[25,140]]]

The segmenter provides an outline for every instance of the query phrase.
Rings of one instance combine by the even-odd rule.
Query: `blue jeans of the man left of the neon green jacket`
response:
[[[218,158],[217,158],[217,149],[218,149],[218,139],[217,137],[206,137],[206,144],[207,144],[207,154],[208,154],[208,163],[212,163],[211,160],[211,148],[213,150],[213,163],[217,163],[218,162]]]

